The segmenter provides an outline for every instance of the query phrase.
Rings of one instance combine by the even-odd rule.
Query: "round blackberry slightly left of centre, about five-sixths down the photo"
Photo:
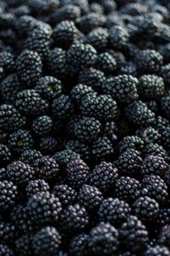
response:
[[[64,209],[59,218],[61,229],[67,233],[82,231],[88,226],[88,212],[80,205],[71,205]]]

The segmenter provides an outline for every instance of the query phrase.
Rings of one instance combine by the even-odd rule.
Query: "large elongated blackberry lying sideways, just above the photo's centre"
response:
[[[90,94],[82,98],[80,109],[83,115],[96,119],[112,120],[116,117],[116,102],[110,95]]]

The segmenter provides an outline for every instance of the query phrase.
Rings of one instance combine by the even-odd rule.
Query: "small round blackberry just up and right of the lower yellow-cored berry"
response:
[[[42,115],[32,122],[32,131],[37,136],[48,135],[53,129],[53,120],[48,115]]]

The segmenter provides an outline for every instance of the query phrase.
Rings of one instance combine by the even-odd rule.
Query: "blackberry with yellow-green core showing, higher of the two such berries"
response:
[[[54,77],[45,76],[38,79],[37,85],[34,89],[42,97],[51,100],[61,94],[61,81]]]

